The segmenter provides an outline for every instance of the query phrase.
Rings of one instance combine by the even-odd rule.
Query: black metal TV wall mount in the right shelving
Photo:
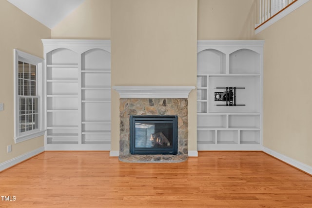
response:
[[[245,89],[245,87],[216,87],[216,89],[225,89],[224,92],[215,92],[215,101],[223,101],[225,106],[236,106],[245,104],[236,104],[236,89]]]

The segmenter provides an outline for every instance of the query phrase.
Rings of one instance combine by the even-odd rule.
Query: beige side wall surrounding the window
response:
[[[43,57],[41,39],[51,38],[51,30],[6,0],[0,0],[0,163],[43,146],[43,137],[14,144],[13,49]],[[12,152],[7,153],[7,146]]]

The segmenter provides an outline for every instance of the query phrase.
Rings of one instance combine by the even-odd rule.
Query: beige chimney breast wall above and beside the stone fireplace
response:
[[[112,86],[196,84],[197,0],[112,1]],[[119,150],[119,96],[112,94],[112,150]],[[196,93],[189,150],[196,150]]]

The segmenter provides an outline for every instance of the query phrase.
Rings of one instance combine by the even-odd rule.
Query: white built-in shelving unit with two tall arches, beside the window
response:
[[[42,40],[46,150],[110,150],[111,54],[107,40]]]

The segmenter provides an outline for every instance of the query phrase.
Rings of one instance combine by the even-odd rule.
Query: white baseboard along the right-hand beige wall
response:
[[[292,159],[290,157],[282,155],[282,154],[280,154],[278,152],[275,152],[272,149],[269,149],[269,148],[264,147],[264,146],[263,146],[263,151],[265,153],[267,153],[269,155],[272,155],[273,157],[275,157],[275,158],[277,158],[277,159],[279,159],[279,160],[289,164],[289,165],[292,165],[292,166],[294,166],[294,167],[296,167],[296,168],[298,168],[300,170],[303,170],[304,172],[307,172],[307,173],[312,175],[312,166],[308,166],[308,165],[306,165],[304,163],[296,161],[296,160],[294,160],[294,159]]]

